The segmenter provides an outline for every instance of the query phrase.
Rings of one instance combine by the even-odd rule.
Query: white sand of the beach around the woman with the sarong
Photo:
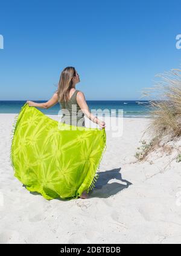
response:
[[[30,193],[14,177],[9,159],[14,116],[0,114],[0,243],[181,242],[181,163],[167,165],[173,155],[159,153],[153,164],[135,162],[147,118],[124,118],[122,136],[106,130],[96,188],[89,199],[64,202]]]

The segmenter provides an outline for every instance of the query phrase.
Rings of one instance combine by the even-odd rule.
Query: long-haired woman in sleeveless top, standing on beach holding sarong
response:
[[[49,107],[59,102],[63,113],[62,123],[84,127],[84,115],[86,115],[89,120],[97,123],[101,128],[105,128],[106,124],[104,121],[99,120],[90,113],[83,92],[75,89],[75,85],[79,82],[80,78],[75,68],[68,66],[63,69],[60,75],[58,90],[49,101],[35,103],[28,100],[27,103],[29,106],[49,109]],[[84,191],[80,197],[82,199],[88,198],[87,192]]]

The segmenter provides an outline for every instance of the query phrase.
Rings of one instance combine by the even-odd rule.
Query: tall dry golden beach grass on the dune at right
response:
[[[163,146],[162,141],[167,143],[181,138],[181,69],[171,69],[156,77],[159,82],[142,92],[142,97],[151,98],[147,104],[150,123],[144,133],[150,133],[154,143],[144,144],[142,153],[137,153],[138,159],[144,159],[154,147]]]

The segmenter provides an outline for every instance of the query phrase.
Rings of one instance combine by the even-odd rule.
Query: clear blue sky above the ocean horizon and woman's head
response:
[[[75,66],[86,100],[145,100],[154,75],[179,68],[179,1],[3,1],[0,100],[48,100]]]

